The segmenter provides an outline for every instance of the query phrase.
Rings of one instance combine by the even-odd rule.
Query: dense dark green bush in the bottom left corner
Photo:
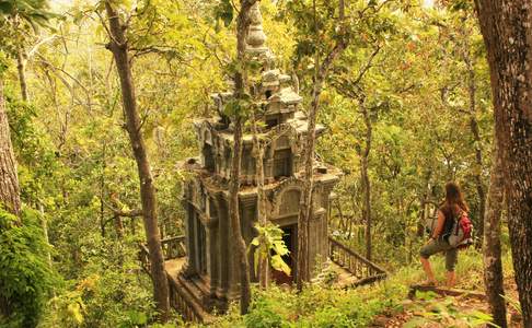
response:
[[[37,213],[24,210],[22,223],[0,210],[0,297],[5,327],[35,327],[58,278],[46,258],[49,246],[43,237]]]

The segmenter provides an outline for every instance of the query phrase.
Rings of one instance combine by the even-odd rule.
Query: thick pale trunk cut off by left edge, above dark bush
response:
[[[3,79],[0,72],[0,207],[20,215],[21,191],[16,174],[16,161],[11,144],[11,136],[3,97]]]

